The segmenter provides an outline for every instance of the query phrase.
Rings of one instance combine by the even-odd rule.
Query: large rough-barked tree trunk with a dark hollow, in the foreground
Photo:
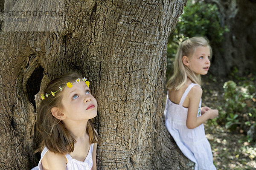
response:
[[[50,79],[70,71],[90,79],[98,101],[98,169],[192,169],[163,121],[166,43],[185,3],[6,1],[7,11],[56,5],[64,14],[53,18],[55,23],[46,23],[51,18],[43,15],[30,17],[26,27],[21,22],[2,25],[0,169],[25,170],[37,164],[33,150],[39,100],[34,96]]]

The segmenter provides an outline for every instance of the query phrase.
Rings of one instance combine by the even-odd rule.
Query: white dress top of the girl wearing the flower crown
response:
[[[38,163],[37,167],[34,167],[32,170],[43,170],[42,167],[42,158],[47,153],[48,149],[47,147],[44,148],[44,150],[41,153],[41,159]],[[66,164],[66,170],[91,170],[93,167],[93,144],[90,145],[90,149],[88,151],[87,157],[84,161],[78,161],[76,159],[73,159],[70,154],[66,154],[67,158],[67,164]]]

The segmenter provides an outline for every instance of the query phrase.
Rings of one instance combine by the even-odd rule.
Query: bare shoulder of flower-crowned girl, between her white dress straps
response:
[[[42,166],[44,170],[66,170],[66,157],[59,153],[48,151],[43,159]]]

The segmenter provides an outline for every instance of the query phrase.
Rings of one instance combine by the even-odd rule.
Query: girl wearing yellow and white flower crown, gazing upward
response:
[[[89,82],[79,74],[52,80],[38,108],[41,159],[32,170],[96,170],[100,138],[89,119],[97,115]]]

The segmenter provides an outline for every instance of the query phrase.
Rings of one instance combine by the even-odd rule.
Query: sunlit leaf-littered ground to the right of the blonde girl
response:
[[[203,77],[202,106],[214,109],[224,105],[223,85],[227,80]],[[246,133],[211,121],[204,125],[217,170],[256,170],[256,142],[248,142]]]

